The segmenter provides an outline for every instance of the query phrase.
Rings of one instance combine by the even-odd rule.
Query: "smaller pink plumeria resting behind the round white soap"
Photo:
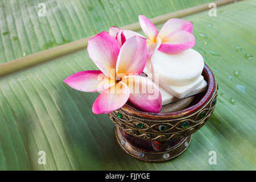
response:
[[[185,51],[196,44],[193,36],[193,24],[187,20],[169,19],[158,32],[153,23],[144,15],[139,15],[139,23],[147,36],[148,55],[155,49],[166,53]]]

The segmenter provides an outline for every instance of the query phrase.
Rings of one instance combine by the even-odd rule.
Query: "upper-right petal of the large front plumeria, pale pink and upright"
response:
[[[116,73],[125,75],[141,75],[146,64],[147,46],[146,39],[133,36],[127,39],[120,49],[117,59]]]

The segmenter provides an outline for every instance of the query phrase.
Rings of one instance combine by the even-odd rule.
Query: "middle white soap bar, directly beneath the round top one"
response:
[[[167,85],[164,83],[162,80],[159,80],[159,85],[163,86],[164,89],[166,89],[168,92],[170,92],[173,96],[177,98],[183,98],[190,92],[192,92],[194,89],[197,88],[204,80],[203,76],[199,76],[196,81],[192,82],[192,84],[188,84],[185,86],[172,86],[172,85]]]

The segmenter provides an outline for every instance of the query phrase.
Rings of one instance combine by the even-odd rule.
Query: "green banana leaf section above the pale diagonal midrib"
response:
[[[211,0],[1,0],[0,64]],[[38,16],[44,3],[46,16]],[[2,46],[3,45],[3,46]]]

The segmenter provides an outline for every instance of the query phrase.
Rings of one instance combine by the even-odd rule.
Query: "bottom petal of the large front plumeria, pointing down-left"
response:
[[[93,104],[92,111],[94,114],[109,114],[125,105],[129,96],[128,86],[119,81],[114,86],[101,92]]]

